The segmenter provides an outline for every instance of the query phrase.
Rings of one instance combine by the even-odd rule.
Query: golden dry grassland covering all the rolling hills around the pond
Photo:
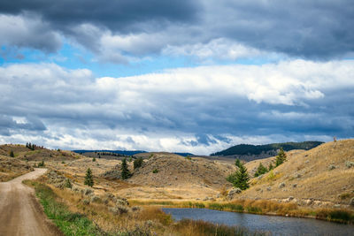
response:
[[[11,150],[15,157],[9,156]],[[146,228],[149,220],[154,222],[152,228],[148,227],[149,230],[158,232],[155,227],[169,225],[171,220],[158,209],[161,206],[323,219],[329,219],[328,216],[335,210],[349,216],[354,212],[354,207],[350,206],[350,200],[354,197],[354,166],[349,168],[347,165],[354,162],[354,140],[327,142],[308,151],[289,151],[284,164],[261,177],[250,179],[250,188],[233,199],[227,197],[232,185],[226,180],[227,175],[236,170],[233,160],[189,159],[168,153],[144,155],[144,164],[137,170],[133,169],[132,162],[128,162],[133,176],[121,180],[119,160],[96,158],[93,161],[70,151],[29,150],[23,145],[3,145],[0,146],[0,178],[3,176],[6,180],[6,175],[13,178],[30,171],[28,166],[33,167],[44,161],[46,168],[56,171],[64,179],[70,179],[73,187],[81,192],[58,186],[45,176],[40,181],[49,185],[73,212],[87,215],[110,232],[130,231],[136,225]],[[268,166],[274,159],[256,160],[245,166],[253,175],[259,163]],[[112,202],[83,203],[88,198],[82,194],[87,188],[83,182],[88,168],[92,170],[95,180],[94,187],[90,189],[98,199],[103,200],[107,194],[113,194],[127,198],[130,208],[140,206],[142,209],[137,212],[130,210],[124,217],[117,217],[109,210],[114,205]],[[158,172],[154,173],[155,169]],[[107,171],[112,170],[113,173],[117,171],[117,179],[105,176]],[[170,231],[170,226],[164,231]]]

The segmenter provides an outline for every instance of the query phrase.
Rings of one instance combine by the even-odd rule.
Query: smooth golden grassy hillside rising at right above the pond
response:
[[[242,199],[290,199],[292,202],[326,205],[349,204],[354,197],[354,140],[327,142],[311,150],[293,150],[287,161],[265,175],[251,179]],[[254,174],[259,163],[266,166],[275,157],[246,164]]]

